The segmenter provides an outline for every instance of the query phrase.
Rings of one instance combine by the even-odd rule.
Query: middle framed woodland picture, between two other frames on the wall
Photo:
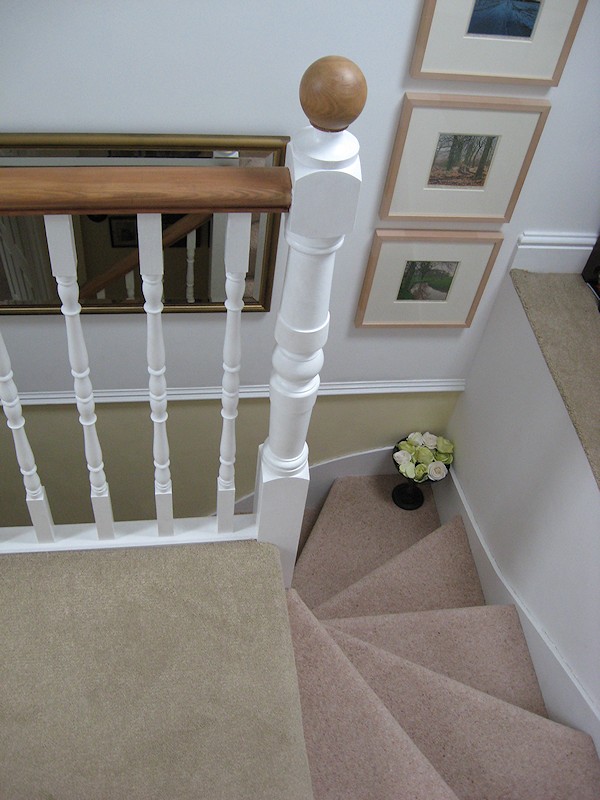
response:
[[[546,100],[407,93],[382,219],[508,222],[549,111]]]

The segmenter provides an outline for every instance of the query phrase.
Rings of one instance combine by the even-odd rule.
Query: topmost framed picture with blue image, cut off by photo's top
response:
[[[413,78],[556,86],[587,0],[425,0]]]

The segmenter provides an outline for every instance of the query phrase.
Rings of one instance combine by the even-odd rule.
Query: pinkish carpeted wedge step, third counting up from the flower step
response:
[[[348,617],[324,625],[547,716],[514,606]]]

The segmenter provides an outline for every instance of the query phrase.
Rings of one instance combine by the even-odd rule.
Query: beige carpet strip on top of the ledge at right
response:
[[[600,313],[581,275],[512,270],[548,369],[600,487]]]

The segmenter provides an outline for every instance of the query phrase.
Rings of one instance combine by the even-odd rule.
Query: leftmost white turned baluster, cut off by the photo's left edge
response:
[[[27,507],[38,542],[54,541],[54,523],[46,491],[41,484],[33,452],[25,433],[25,420],[17,387],[13,380],[8,351],[0,333],[0,401],[6,415],[6,424],[12,431],[17,462],[23,475]]]

